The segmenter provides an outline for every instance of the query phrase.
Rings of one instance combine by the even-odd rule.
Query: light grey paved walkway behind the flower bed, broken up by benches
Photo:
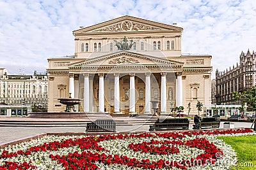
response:
[[[235,122],[235,128],[245,127],[250,128],[252,123]],[[189,125],[189,129],[192,129],[193,124]],[[223,122],[220,124],[220,128],[223,128]],[[149,125],[118,125],[116,127],[117,132],[147,132]],[[80,132],[83,133],[85,127],[0,127],[0,143],[7,141],[13,141],[20,138],[26,138],[28,136],[36,136],[42,133],[61,133],[61,132]]]

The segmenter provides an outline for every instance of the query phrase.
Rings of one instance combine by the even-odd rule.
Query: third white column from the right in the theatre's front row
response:
[[[150,87],[150,74],[145,73],[146,76],[146,87],[145,87],[145,113],[151,113],[150,110],[150,99],[151,99],[151,87]]]

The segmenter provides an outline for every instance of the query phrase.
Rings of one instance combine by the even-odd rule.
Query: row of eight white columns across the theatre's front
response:
[[[115,113],[120,112],[120,83],[119,73],[113,73],[115,77]],[[167,94],[166,94],[166,72],[161,73],[161,113],[167,113]],[[99,112],[104,112],[104,73],[99,73]],[[129,73],[130,75],[130,93],[129,93],[129,113],[135,113],[136,96],[135,96],[135,80],[136,73]],[[84,112],[93,112],[93,80],[89,78],[89,73],[84,73]],[[151,73],[145,73],[145,113],[151,113],[150,99],[151,99]],[[176,106],[182,106],[182,75],[176,74]],[[74,98],[74,74],[69,76],[69,93],[70,97]]]

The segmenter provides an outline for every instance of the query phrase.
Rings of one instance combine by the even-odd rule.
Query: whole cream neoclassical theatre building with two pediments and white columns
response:
[[[124,16],[73,31],[72,56],[48,59],[48,111],[63,111],[59,98],[81,99],[76,110],[150,113],[175,106],[196,113],[211,104],[211,55],[182,54],[183,29]]]

